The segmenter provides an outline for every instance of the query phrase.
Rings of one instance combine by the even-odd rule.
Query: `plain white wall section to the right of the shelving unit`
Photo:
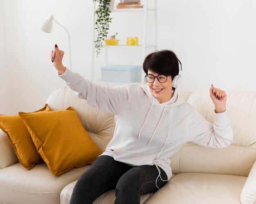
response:
[[[160,0],[159,48],[183,65],[181,88],[256,91],[254,0]],[[166,11],[165,8],[168,8]]]

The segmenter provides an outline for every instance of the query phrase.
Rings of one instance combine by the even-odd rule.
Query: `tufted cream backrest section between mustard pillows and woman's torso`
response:
[[[85,100],[79,99],[76,92],[67,86],[54,90],[46,103],[51,110],[66,110],[69,106],[74,108],[94,143],[102,152],[105,151],[115,130],[114,114],[91,107]]]

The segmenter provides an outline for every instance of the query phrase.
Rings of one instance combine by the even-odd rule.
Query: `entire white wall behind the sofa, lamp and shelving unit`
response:
[[[157,4],[158,50],[171,49],[182,62],[180,88],[208,90],[213,83],[223,90],[256,91],[254,0],[158,0]],[[72,70],[91,79],[92,7],[92,0],[0,0],[0,11],[4,8],[4,15],[0,12],[0,42],[4,44],[5,34],[10,74],[4,61],[5,46],[0,46],[1,96],[2,87],[9,88],[8,97],[0,100],[0,114],[38,110],[52,90],[65,86],[49,53],[58,44],[65,51],[64,65],[69,66],[67,34],[57,24],[51,34],[38,28],[51,14],[70,31]],[[154,39],[153,16],[148,15],[150,44]],[[109,35],[118,32],[123,43],[127,36],[141,39],[142,13],[112,13],[112,17]],[[138,50],[111,52],[115,58],[110,58],[110,63],[141,63]],[[103,61],[104,50],[95,59],[95,79],[100,78]],[[4,85],[3,78],[8,79]],[[7,104],[10,109],[5,108]]]

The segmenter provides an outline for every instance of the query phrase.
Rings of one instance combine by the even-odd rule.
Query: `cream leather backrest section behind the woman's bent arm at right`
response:
[[[214,123],[209,91],[193,92],[188,103]],[[234,133],[232,145],[221,149],[186,143],[172,156],[174,174],[184,172],[248,176],[256,160],[256,92],[227,91],[227,115]]]

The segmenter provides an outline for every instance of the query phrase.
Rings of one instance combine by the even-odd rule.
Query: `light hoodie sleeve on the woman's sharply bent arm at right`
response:
[[[227,112],[216,113],[214,124],[207,121],[196,109],[191,112],[188,123],[189,142],[204,147],[228,147],[233,142],[233,131]]]

